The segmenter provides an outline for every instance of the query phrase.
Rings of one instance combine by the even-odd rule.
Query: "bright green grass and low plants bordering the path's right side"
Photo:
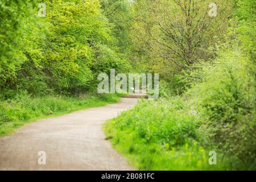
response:
[[[179,110],[183,105],[174,102],[142,101],[107,121],[105,134],[113,137],[114,148],[139,170],[228,169],[218,151],[199,145],[196,119],[184,116]],[[211,150],[217,152],[216,165],[208,162]]]

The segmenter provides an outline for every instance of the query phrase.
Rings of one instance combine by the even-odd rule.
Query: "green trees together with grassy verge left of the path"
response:
[[[130,4],[120,2],[125,14]],[[39,3],[0,2],[1,135],[35,118],[118,101],[96,93],[98,73],[131,67],[119,23],[127,17],[108,18],[98,0],[44,1],[45,14]]]

